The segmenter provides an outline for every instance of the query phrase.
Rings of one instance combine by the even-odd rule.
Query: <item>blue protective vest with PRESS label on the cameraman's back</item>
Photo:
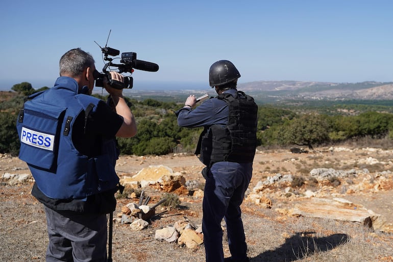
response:
[[[19,158],[28,163],[38,188],[53,199],[86,200],[116,188],[118,157],[115,140],[103,139],[101,155],[88,158],[72,142],[77,116],[97,109],[99,99],[78,94],[78,83],[57,79],[51,89],[32,94],[20,110],[16,124]]]

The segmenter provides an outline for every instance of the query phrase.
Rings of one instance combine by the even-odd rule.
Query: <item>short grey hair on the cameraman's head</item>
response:
[[[60,76],[80,76],[86,67],[94,65],[94,59],[80,48],[71,49],[60,58]]]

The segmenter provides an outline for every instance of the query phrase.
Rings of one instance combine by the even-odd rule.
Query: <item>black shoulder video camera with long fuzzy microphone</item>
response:
[[[95,41],[94,41],[95,42]],[[96,42],[95,42],[96,43]],[[100,45],[99,45],[100,46]],[[110,67],[117,67],[118,73],[133,73],[134,69],[149,71],[149,72],[157,72],[158,64],[147,62],[143,60],[136,59],[136,53],[128,52],[121,53],[120,64],[113,63],[114,58],[110,58],[108,56],[118,56],[120,54],[119,50],[113,49],[111,47],[101,47],[101,51],[104,54],[104,60],[108,61],[103,67],[103,73],[99,73],[97,70],[93,72],[93,77],[95,79],[95,86],[103,87],[104,77],[109,80],[110,86],[116,89],[123,88],[132,88],[133,87],[133,78],[132,77],[124,77],[124,83],[120,81],[116,81],[111,79]]]

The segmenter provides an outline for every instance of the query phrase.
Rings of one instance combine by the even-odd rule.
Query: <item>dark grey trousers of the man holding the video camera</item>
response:
[[[46,261],[107,261],[106,215],[59,213],[45,207],[49,244]]]

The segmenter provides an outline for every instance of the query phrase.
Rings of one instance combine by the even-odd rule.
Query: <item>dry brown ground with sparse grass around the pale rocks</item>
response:
[[[307,203],[306,190],[317,197],[344,198],[363,205],[393,223],[393,151],[381,149],[321,148],[309,153],[292,154],[289,150],[268,150],[256,154],[249,192],[259,181],[277,173],[304,177],[304,184],[277,184],[264,191],[273,202],[264,208],[252,201],[242,204],[242,219],[247,237],[250,261],[393,261],[393,235],[367,228],[355,222],[319,218],[288,217],[276,208],[291,208]],[[374,161],[372,161],[374,160]],[[165,165],[180,172],[186,180],[204,184],[204,165],[193,155],[121,156],[116,171],[120,177],[132,176],[150,165]],[[369,170],[359,176],[313,184],[308,180],[313,168],[335,170]],[[2,175],[30,174],[27,165],[15,157],[0,157]],[[44,261],[47,245],[46,221],[42,205],[31,196],[31,181],[0,185],[0,261]],[[285,188],[291,187],[291,196]],[[355,188],[355,189],[353,189]],[[150,205],[158,202],[164,192],[148,187]],[[155,231],[188,218],[194,224],[202,221],[202,197],[180,195],[177,208],[157,208],[147,229],[133,231],[129,225],[114,224],[113,261],[205,261],[203,245],[195,249],[177,243],[154,239]],[[118,199],[114,216],[121,207],[138,199]],[[225,224],[223,223],[225,227]],[[224,237],[224,252],[229,256]]]

